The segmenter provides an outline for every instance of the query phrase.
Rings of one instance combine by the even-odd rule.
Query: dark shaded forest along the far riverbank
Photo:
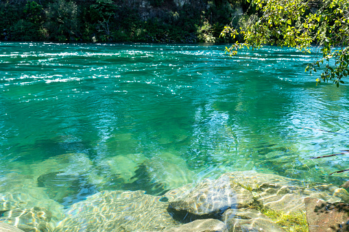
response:
[[[219,34],[247,8],[243,0],[5,0],[0,40],[229,42]]]

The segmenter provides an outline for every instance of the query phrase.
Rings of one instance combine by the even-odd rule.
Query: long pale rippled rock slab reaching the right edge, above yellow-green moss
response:
[[[222,177],[224,176],[234,184],[251,190],[256,201],[276,211],[305,211],[306,197],[322,198],[330,202],[349,201],[346,190],[331,184],[309,187],[297,179],[255,171],[228,172]]]

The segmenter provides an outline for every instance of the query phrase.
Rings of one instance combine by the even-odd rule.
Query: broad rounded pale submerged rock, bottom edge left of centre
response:
[[[143,191],[99,192],[71,205],[54,231],[163,231],[178,226],[160,198]]]

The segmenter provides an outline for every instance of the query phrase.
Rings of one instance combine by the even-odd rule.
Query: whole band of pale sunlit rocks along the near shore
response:
[[[1,194],[0,201],[0,231],[349,231],[346,189],[254,171],[162,196],[106,190],[68,209],[34,190]]]

